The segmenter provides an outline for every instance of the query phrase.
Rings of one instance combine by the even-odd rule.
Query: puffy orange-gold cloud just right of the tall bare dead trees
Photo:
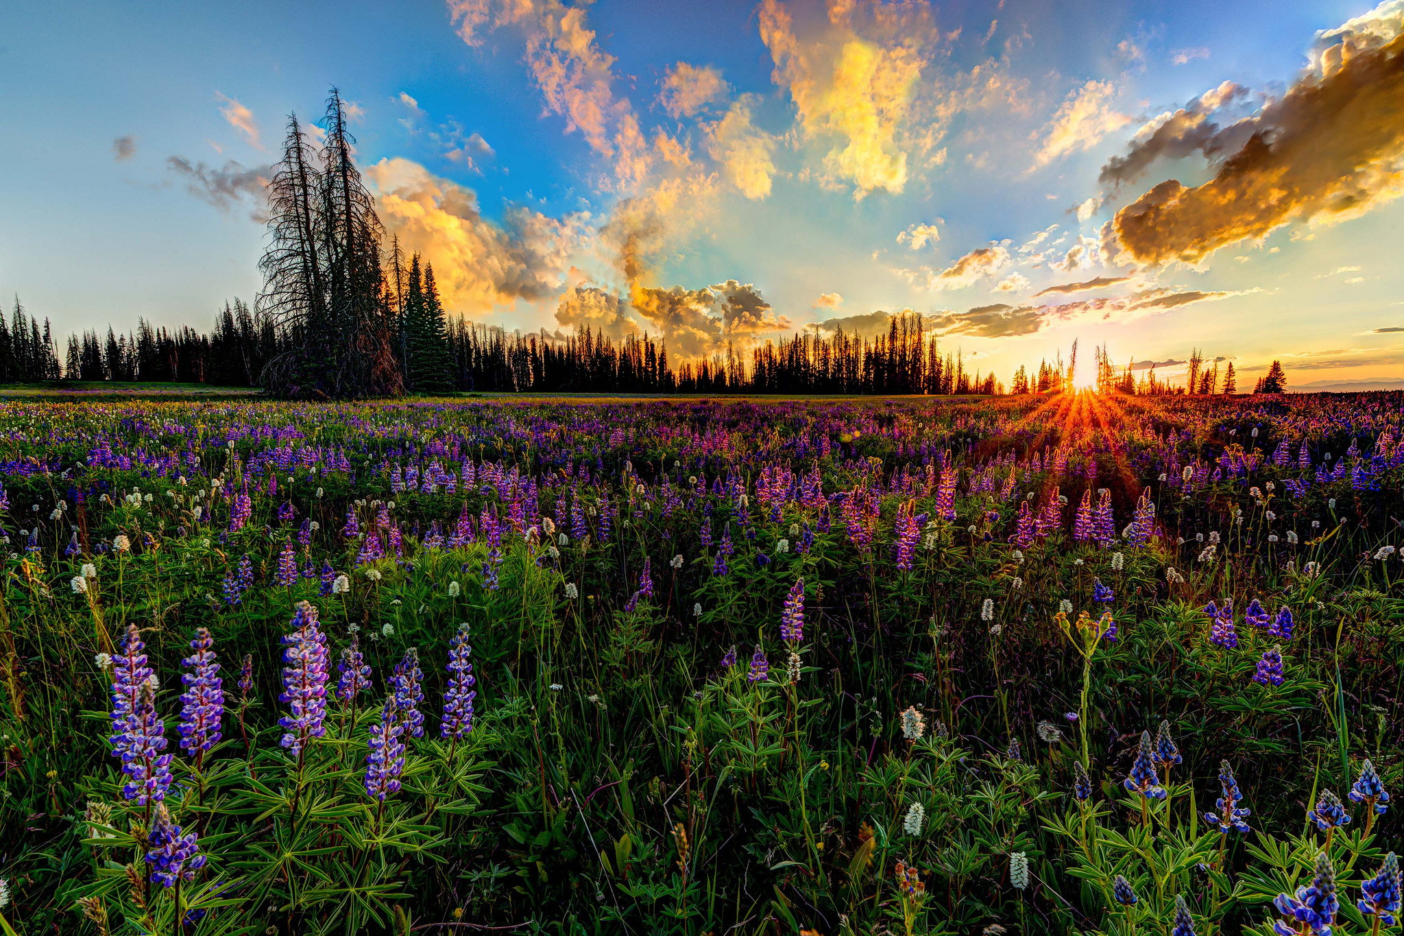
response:
[[[517,299],[557,295],[570,255],[584,239],[581,216],[549,218],[508,206],[503,222],[482,216],[477,194],[407,159],[382,159],[364,171],[386,233],[406,253],[434,264],[452,312],[489,312]]]

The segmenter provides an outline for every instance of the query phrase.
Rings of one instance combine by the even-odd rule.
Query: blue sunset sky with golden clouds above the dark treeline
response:
[[[0,295],[60,347],[254,300],[336,86],[473,321],[1404,386],[1404,0],[4,4],[0,63]]]

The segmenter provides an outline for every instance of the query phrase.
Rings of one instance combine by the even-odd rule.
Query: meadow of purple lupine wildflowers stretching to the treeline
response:
[[[1404,394],[0,403],[0,933],[1397,932]]]

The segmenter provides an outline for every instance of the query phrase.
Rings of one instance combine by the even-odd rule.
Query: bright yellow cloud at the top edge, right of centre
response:
[[[915,147],[906,121],[936,35],[929,7],[830,0],[827,21],[803,31],[781,0],[761,0],[758,15],[772,79],[823,152],[820,180],[855,198],[901,192]]]

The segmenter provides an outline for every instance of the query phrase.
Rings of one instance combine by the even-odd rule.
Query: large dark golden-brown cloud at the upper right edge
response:
[[[1195,188],[1161,182],[1122,208],[1116,237],[1129,260],[1199,262],[1285,225],[1339,222],[1397,198],[1404,3],[1387,0],[1320,34],[1311,66],[1282,97],[1195,139],[1217,174]]]

